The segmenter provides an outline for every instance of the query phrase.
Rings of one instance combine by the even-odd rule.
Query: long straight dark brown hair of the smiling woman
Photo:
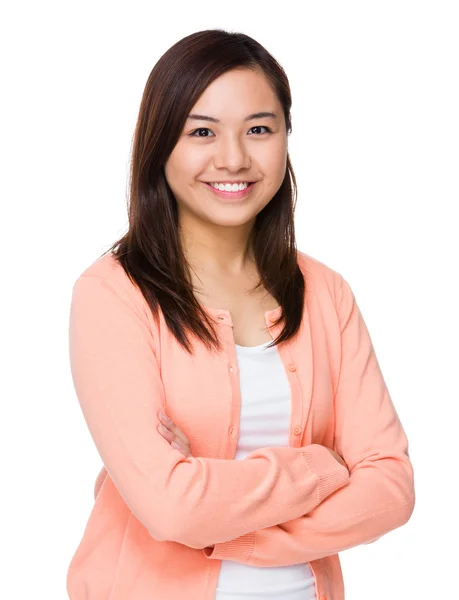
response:
[[[221,350],[213,319],[197,301],[179,238],[177,202],[164,165],[190,110],[206,87],[223,73],[247,68],[262,72],[283,107],[291,133],[291,94],[278,62],[253,38],[222,29],[198,31],[174,44],[155,64],[143,92],[135,128],[129,182],[129,227],[106,252],[112,252],[145,297],[154,317],[158,305],[167,326],[186,351],[193,351],[185,330],[209,349]],[[261,280],[281,306],[281,334],[292,338],[301,325],[305,281],[297,261],[294,210],[297,188],[287,155],[284,180],[258,213],[250,234]]]

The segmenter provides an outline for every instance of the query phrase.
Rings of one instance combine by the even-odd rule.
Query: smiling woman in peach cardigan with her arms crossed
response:
[[[342,600],[338,552],[411,516],[352,290],[296,249],[290,108],[240,33],[189,35],[148,78],[128,232],[73,288],[72,376],[106,470],[72,600]]]

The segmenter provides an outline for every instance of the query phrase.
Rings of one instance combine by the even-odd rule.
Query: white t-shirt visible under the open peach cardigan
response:
[[[290,385],[276,346],[238,346],[241,385],[236,460],[258,448],[288,446]],[[254,567],[222,560],[215,600],[317,600],[309,563]]]

